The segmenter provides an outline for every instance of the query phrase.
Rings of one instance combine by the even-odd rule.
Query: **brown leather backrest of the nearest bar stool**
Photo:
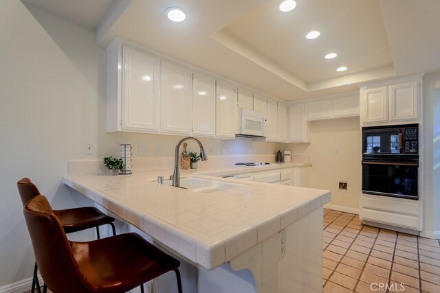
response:
[[[35,196],[23,207],[36,263],[47,287],[56,293],[93,292],[74,258],[63,226],[45,196]]]

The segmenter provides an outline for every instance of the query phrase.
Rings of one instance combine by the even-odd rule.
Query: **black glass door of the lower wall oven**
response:
[[[362,160],[362,192],[418,200],[419,163]]]

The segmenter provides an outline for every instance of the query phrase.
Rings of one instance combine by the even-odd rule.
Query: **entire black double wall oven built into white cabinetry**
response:
[[[362,192],[419,199],[419,125],[362,128]]]

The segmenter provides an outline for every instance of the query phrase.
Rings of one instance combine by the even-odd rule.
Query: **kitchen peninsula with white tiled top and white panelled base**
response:
[[[322,292],[329,191],[212,176],[243,172],[249,169],[191,174],[228,187],[215,192],[159,184],[153,172],[67,176],[63,183],[192,268],[182,272],[184,292]]]

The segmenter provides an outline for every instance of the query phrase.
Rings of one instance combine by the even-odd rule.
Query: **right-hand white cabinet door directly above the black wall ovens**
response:
[[[390,86],[390,121],[419,118],[419,84],[417,81]]]

